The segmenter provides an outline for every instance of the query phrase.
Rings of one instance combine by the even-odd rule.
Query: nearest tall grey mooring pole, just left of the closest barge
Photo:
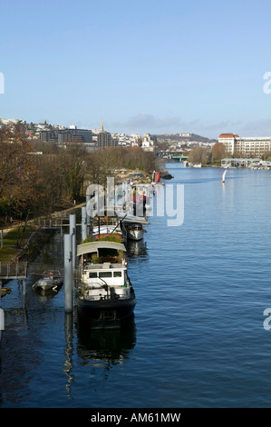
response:
[[[73,312],[73,235],[64,234],[65,312]]]

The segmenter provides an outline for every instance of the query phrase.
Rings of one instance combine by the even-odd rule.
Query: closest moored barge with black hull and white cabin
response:
[[[96,241],[77,248],[81,278],[77,289],[80,323],[92,327],[119,328],[131,317],[136,297],[127,274],[122,243]]]

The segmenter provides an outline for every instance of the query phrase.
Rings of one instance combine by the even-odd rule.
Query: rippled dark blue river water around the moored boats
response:
[[[154,214],[129,245],[126,328],[89,333],[64,313],[64,288],[47,299],[32,276],[25,294],[9,283],[0,407],[271,406],[271,171],[230,169],[221,184],[220,168],[167,168],[154,203],[183,184],[184,221]],[[62,260],[56,234],[38,262]]]

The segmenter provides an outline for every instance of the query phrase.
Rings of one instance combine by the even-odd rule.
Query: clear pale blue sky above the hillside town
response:
[[[0,0],[0,117],[271,135],[270,16],[266,0]]]

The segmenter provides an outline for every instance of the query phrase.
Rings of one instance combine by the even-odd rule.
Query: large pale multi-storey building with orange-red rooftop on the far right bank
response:
[[[241,138],[237,134],[220,134],[218,143],[224,144],[230,155],[261,157],[271,152],[271,136]]]

